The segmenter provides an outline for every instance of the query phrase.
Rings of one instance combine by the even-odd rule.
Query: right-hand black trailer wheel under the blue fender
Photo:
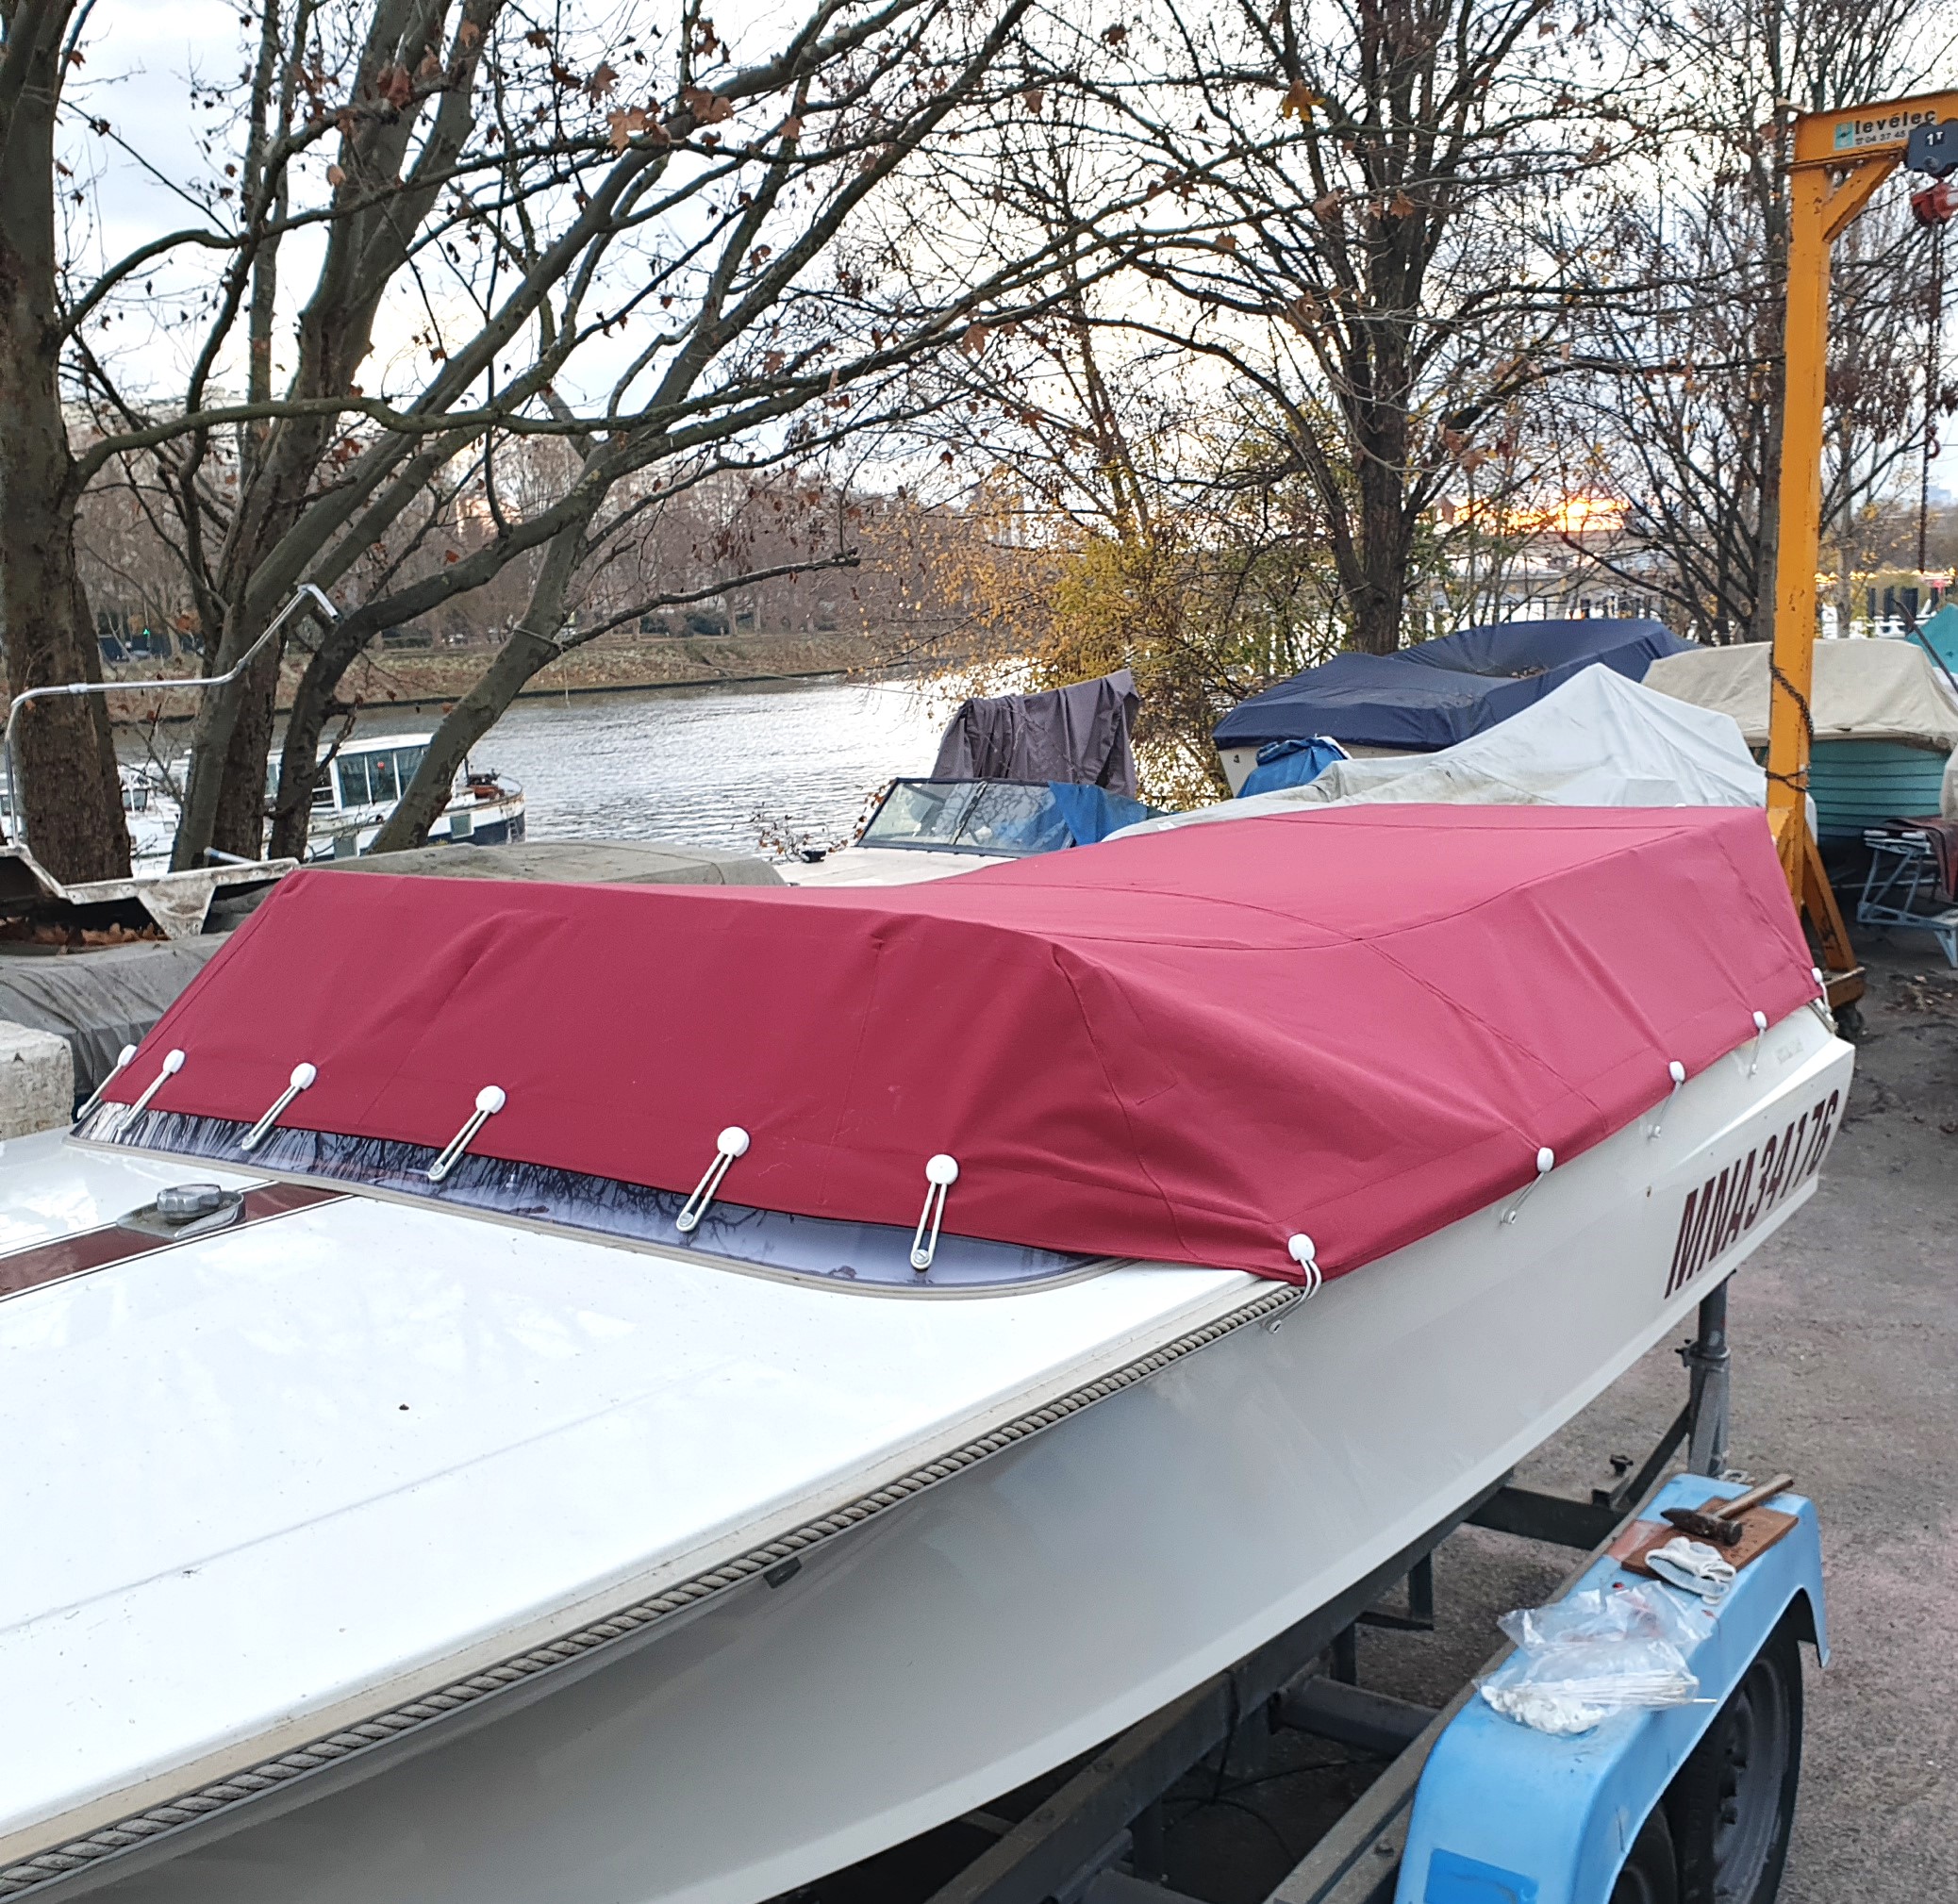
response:
[[[1774,1904],[1801,1783],[1801,1652],[1768,1636],[1666,1791],[1682,1904]]]

